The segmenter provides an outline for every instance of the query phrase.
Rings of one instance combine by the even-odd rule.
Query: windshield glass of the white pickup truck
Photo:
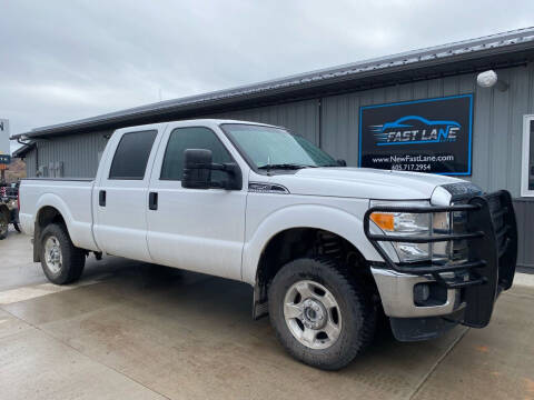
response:
[[[222,129],[259,169],[339,167],[318,147],[284,129],[243,123],[225,123]]]

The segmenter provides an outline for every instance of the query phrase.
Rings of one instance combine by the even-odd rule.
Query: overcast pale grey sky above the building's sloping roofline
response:
[[[1,0],[11,134],[534,26],[534,1]]]

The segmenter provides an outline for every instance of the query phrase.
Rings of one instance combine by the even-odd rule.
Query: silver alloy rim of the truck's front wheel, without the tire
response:
[[[291,334],[310,349],[327,349],[342,332],[342,313],[336,298],[323,284],[301,280],[284,299],[284,318]]]

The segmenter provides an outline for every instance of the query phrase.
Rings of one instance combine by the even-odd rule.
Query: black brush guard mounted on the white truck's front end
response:
[[[369,230],[373,212],[434,213],[466,211],[465,232],[432,236],[386,236]],[[451,224],[453,220],[451,219]],[[495,300],[502,290],[510,289],[517,261],[517,226],[508,191],[473,197],[466,204],[448,207],[372,207],[364,216],[364,231],[386,267],[402,273],[432,276],[447,289],[463,289],[465,311],[458,322],[485,327],[492,317]],[[379,242],[435,243],[466,240],[468,259],[461,263],[396,263]],[[455,272],[444,278],[442,272]]]

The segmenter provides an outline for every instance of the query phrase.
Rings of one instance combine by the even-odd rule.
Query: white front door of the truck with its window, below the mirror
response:
[[[214,162],[233,162],[224,141],[206,127],[169,128],[164,136],[166,149],[158,153],[149,188],[151,199],[157,199],[148,211],[154,262],[240,280],[247,186],[241,190],[181,187],[184,150],[208,149]],[[224,172],[212,171],[212,181],[225,179]]]

